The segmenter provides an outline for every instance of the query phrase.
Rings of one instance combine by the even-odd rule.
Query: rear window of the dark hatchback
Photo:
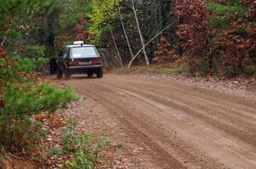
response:
[[[98,56],[94,47],[72,48],[71,54],[72,58],[93,58]]]

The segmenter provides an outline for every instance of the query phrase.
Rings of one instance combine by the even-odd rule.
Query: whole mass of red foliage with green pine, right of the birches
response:
[[[177,0],[172,10],[179,20],[177,42],[168,52],[162,37],[155,54],[160,60],[164,53],[169,58],[182,58],[192,75],[256,75],[255,5],[253,0]],[[181,48],[183,52],[177,57]]]

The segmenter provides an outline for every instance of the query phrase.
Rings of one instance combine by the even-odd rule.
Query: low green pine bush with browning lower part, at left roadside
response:
[[[70,88],[57,89],[47,83],[34,85],[33,82],[9,85],[3,93],[5,107],[0,110],[0,144],[10,151],[31,149],[42,141],[44,131],[32,121],[32,115],[53,113],[78,99]]]

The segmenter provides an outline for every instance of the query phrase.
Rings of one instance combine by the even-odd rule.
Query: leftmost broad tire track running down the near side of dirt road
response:
[[[93,84],[91,84],[93,83]],[[78,87],[76,85],[76,87]],[[92,88],[94,89],[92,89]],[[79,87],[80,88],[80,87]],[[182,139],[178,139],[177,138],[177,132],[175,131],[166,131],[163,132],[161,130],[163,130],[164,128],[161,127],[161,125],[159,125],[159,123],[155,123],[155,121],[152,121],[152,116],[150,115],[143,115],[142,110],[148,110],[148,105],[144,105],[144,102],[139,102],[139,100],[136,100],[136,106],[139,107],[140,104],[142,104],[141,107],[139,107],[137,110],[136,109],[129,109],[129,106],[134,106],[135,107],[135,103],[134,100],[131,102],[131,104],[127,104],[125,103],[126,99],[124,99],[123,95],[117,94],[120,98],[118,99],[116,94],[113,95],[113,93],[115,93],[113,90],[110,90],[108,87],[104,87],[102,84],[99,87],[99,84],[95,83],[95,82],[90,82],[89,84],[86,85],[86,90],[88,91],[97,91],[97,93],[94,93],[94,95],[96,95],[97,98],[102,98],[102,104],[106,104],[107,106],[111,106],[112,105],[112,111],[116,112],[116,110],[122,110],[123,113],[120,114],[121,117],[123,117],[122,119],[126,119],[129,120],[130,122],[128,123],[128,126],[131,126],[131,124],[136,124],[137,127],[134,128],[134,133],[137,133],[137,131],[142,131],[143,135],[147,136],[147,139],[149,140],[154,140],[154,141],[150,141],[154,142],[154,143],[158,143],[158,147],[162,147],[163,143],[165,144],[164,148],[168,149],[169,155],[160,155],[159,153],[152,153],[153,155],[152,158],[158,159],[158,163],[160,164],[165,164],[166,162],[166,158],[172,158],[172,154],[176,153],[178,154],[179,161],[174,162],[174,165],[178,162],[178,163],[184,163],[184,166],[188,166],[189,168],[212,168],[213,166],[218,166],[218,168],[222,168],[221,164],[218,164],[217,161],[213,160],[210,157],[207,157],[203,154],[201,154],[199,151],[197,151],[196,149],[192,149],[190,147],[189,144],[184,144]],[[113,98],[115,98],[115,100],[113,100]],[[120,101],[120,99],[124,99],[123,101]],[[115,101],[118,100],[119,102],[116,103]],[[131,99],[132,100],[132,99]],[[107,103],[105,103],[107,101]],[[143,108],[144,107],[144,108]],[[154,109],[154,106],[152,106],[152,108],[149,108],[150,110]],[[128,110],[128,111],[127,111]],[[159,110],[156,110],[155,112],[157,112]],[[131,112],[133,112],[135,115],[131,114]],[[154,113],[155,113],[154,112]],[[153,114],[151,114],[153,115]],[[163,114],[165,115],[165,114]],[[149,120],[149,121],[148,121]],[[161,130],[160,130],[161,129]],[[163,135],[164,134],[164,135]],[[140,135],[135,135],[134,138],[140,138]],[[147,139],[142,139],[144,144],[148,144]],[[145,141],[146,140],[146,141]],[[172,147],[170,147],[172,146]],[[148,146],[150,149],[151,146],[150,144],[148,144]],[[162,148],[160,148],[162,149]],[[166,150],[165,150],[166,151]],[[192,155],[190,153],[190,151],[194,151],[195,155]],[[166,158],[164,158],[166,157]],[[164,160],[164,161],[163,161]],[[161,165],[160,165],[161,166]],[[171,167],[173,166],[173,164],[169,164],[168,167],[161,167],[161,168],[180,168],[180,167]]]

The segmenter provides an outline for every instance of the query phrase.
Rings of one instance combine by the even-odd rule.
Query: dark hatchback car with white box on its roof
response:
[[[74,42],[63,48],[57,59],[57,78],[63,75],[65,79],[73,74],[87,74],[89,77],[96,74],[98,78],[103,76],[102,57],[95,46]]]

